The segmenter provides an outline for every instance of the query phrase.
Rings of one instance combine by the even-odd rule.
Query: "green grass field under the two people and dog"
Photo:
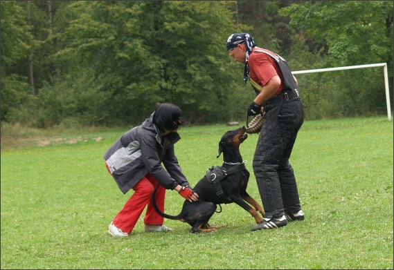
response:
[[[217,146],[228,129],[181,128],[175,151],[190,184],[222,164]],[[125,131],[29,131],[23,147],[1,138],[1,269],[393,269],[393,122],[386,117],[304,123],[290,159],[303,222],[251,232],[249,213],[225,204],[211,218],[225,225],[215,233],[192,234],[174,220],[165,220],[172,232],[145,233],[141,216],[119,239],[108,224],[132,191],[119,191],[102,155]],[[42,136],[50,139],[39,146]],[[257,139],[249,135],[240,150],[252,173],[248,191],[261,202],[251,164]],[[181,196],[167,192],[165,212],[179,213]]]

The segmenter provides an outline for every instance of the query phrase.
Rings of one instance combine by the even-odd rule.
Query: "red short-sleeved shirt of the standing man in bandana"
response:
[[[253,49],[260,50],[262,48],[256,46]],[[270,50],[268,51],[271,52]],[[271,53],[275,55],[274,52]],[[280,86],[275,93],[275,95],[279,95],[280,91],[283,89],[283,75],[276,61],[264,52],[252,52],[251,55],[249,55],[248,63],[251,78],[253,81],[260,84],[260,86],[265,86],[275,75],[280,77]]]

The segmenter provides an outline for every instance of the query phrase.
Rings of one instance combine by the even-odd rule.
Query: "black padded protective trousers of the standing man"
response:
[[[253,171],[265,218],[280,218],[301,210],[289,157],[304,122],[304,108],[301,97],[286,100],[283,95],[262,106],[267,113],[253,157]]]

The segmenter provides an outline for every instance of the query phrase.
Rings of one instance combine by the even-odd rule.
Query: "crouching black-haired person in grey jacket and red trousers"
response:
[[[154,113],[141,126],[123,134],[104,154],[107,170],[124,194],[134,194],[109,224],[108,232],[123,237],[132,233],[143,209],[145,231],[172,231],[154,210],[151,200],[157,184],[156,204],[164,211],[165,190],[172,189],[190,202],[198,200],[181,171],[174,144],[181,139],[181,109],[169,103],[156,104]]]

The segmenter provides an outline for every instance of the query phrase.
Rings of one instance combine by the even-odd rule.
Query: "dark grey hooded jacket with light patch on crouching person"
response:
[[[104,154],[107,168],[124,194],[147,173],[165,189],[189,184],[174,154],[174,144],[181,137],[178,133],[161,137],[152,117],[153,113],[141,126],[123,134]]]

